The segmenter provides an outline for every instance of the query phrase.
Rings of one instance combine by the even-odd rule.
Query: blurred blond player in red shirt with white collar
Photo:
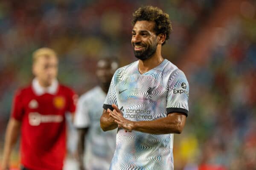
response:
[[[58,58],[50,48],[33,53],[32,84],[15,94],[7,125],[2,170],[21,133],[21,170],[61,170],[66,154],[65,113],[75,112],[76,94],[58,83]]]

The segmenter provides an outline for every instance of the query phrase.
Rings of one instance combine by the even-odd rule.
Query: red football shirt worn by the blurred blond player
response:
[[[76,94],[57,84],[55,93],[38,95],[33,83],[17,91],[12,108],[12,117],[21,121],[21,164],[31,170],[61,170],[66,154],[65,113],[75,112]]]

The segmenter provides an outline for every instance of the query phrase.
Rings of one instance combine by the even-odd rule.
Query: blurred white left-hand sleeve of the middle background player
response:
[[[89,102],[88,99],[81,96],[77,102],[74,125],[77,128],[86,128],[90,126],[89,116]]]

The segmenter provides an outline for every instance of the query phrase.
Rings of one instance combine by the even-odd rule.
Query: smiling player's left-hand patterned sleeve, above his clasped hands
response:
[[[116,71],[117,72],[117,71]],[[105,102],[103,104],[103,108],[105,110],[107,110],[108,108],[113,111],[113,107],[112,104],[116,104],[116,73],[113,75],[112,80],[111,80],[111,84],[109,86],[108,89],[108,94],[107,97],[105,99]]]

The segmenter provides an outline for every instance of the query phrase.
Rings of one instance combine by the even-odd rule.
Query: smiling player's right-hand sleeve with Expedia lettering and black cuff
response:
[[[185,74],[179,69],[172,72],[168,81],[168,96],[166,111],[183,113],[188,116],[189,83]]]

